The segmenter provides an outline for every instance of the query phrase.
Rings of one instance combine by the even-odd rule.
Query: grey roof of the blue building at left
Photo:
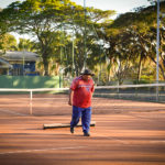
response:
[[[24,61],[28,62],[36,62],[40,59],[40,56],[36,53],[33,52],[7,52],[2,57],[10,62],[10,61]]]

